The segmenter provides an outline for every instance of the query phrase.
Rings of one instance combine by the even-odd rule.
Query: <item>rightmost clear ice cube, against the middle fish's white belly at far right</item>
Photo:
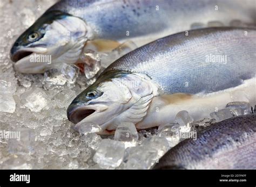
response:
[[[251,106],[247,102],[231,102],[226,105],[235,116],[252,113]]]

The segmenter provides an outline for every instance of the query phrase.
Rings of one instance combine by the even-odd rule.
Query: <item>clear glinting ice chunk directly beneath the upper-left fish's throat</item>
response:
[[[44,73],[44,88],[51,90],[54,88],[59,88],[65,84],[73,84],[79,74],[79,68],[75,65],[69,65],[66,63],[58,63],[45,71]]]

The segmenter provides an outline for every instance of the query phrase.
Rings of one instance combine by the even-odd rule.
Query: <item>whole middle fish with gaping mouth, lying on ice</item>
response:
[[[153,41],[107,67],[73,99],[68,119],[75,130],[82,121],[110,134],[123,122],[137,130],[174,122],[181,110],[197,121],[230,102],[254,106],[255,49],[255,28],[203,28]]]

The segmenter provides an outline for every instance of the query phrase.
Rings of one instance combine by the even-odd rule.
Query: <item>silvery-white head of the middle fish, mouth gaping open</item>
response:
[[[99,134],[109,134],[120,123],[136,124],[145,116],[153,97],[147,81],[129,73],[112,76],[104,81],[99,78],[72,101],[67,115],[76,124],[75,130],[79,131],[81,123],[97,124],[102,130]]]

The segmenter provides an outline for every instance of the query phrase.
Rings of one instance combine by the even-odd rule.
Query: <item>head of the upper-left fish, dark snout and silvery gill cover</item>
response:
[[[43,73],[52,63],[75,63],[88,37],[82,19],[61,11],[46,12],[15,41],[10,57],[21,73]]]

